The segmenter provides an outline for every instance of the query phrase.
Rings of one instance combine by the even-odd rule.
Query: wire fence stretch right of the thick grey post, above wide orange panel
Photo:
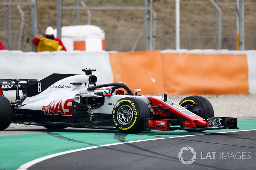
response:
[[[235,0],[214,0],[221,9],[221,49],[236,50]],[[245,50],[256,48],[256,1],[244,0]],[[175,49],[175,1],[154,3],[156,49]],[[170,17],[171,16],[171,17]],[[180,48],[219,49],[218,11],[210,0],[180,0]]]

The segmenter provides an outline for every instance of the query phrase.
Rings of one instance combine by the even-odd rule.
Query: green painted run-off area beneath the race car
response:
[[[26,128],[34,131],[31,134],[20,134],[20,129],[8,128],[0,131],[0,169],[27,169],[41,161],[59,155],[94,149],[104,146],[154,141],[157,139],[189,137],[196,135],[211,135],[232,131],[256,130],[256,120],[238,121],[239,129],[205,130],[200,133],[191,133],[182,130],[176,131],[145,131],[140,134],[126,135],[117,130],[78,129],[67,128],[62,130],[49,130],[41,127]],[[4,135],[6,131],[15,131],[15,135]],[[255,134],[255,131],[253,132]],[[4,135],[4,136],[2,136]],[[223,135],[225,137],[225,135]],[[248,138],[244,135],[244,138]],[[254,139],[255,140],[255,139]],[[214,143],[214,140],[212,140]],[[157,146],[156,146],[157,147]],[[170,145],[169,147],[172,147]],[[175,146],[177,147],[177,146]],[[185,147],[185,146],[184,146]],[[181,149],[181,148],[180,148]],[[256,153],[252,153],[255,155]],[[204,157],[207,155],[204,155]],[[200,157],[198,154],[197,157]],[[177,153],[178,158],[178,153]],[[253,156],[255,159],[255,156]],[[179,160],[179,159],[178,159]],[[180,163],[181,164],[181,163]]]

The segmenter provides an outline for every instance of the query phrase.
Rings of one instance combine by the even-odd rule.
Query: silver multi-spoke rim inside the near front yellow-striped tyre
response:
[[[117,121],[122,125],[127,125],[132,121],[132,108],[128,105],[121,106],[117,111]]]

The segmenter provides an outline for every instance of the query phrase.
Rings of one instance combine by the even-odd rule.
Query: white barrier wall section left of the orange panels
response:
[[[96,69],[97,84],[112,83],[109,53],[105,51],[22,52],[0,50],[0,79],[38,79],[53,73],[85,74],[82,69]]]

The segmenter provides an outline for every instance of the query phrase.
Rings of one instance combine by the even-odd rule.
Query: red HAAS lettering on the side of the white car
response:
[[[48,106],[43,106],[44,115],[72,116],[72,101],[74,99],[61,99],[53,101]]]

